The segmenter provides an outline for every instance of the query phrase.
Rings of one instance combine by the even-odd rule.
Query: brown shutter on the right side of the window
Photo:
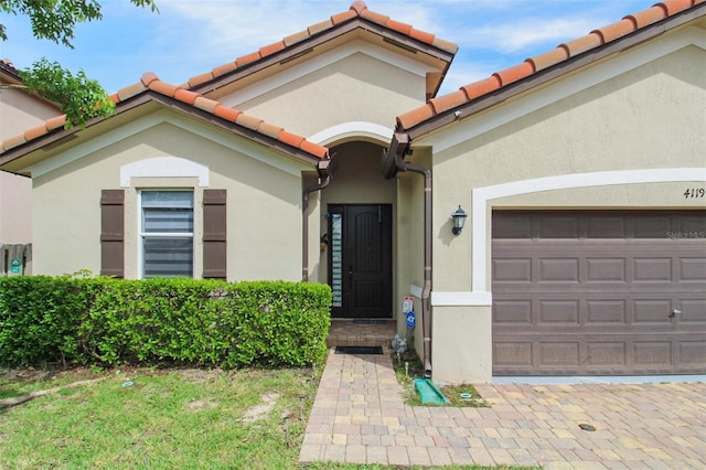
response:
[[[226,190],[203,192],[203,278],[227,278]]]

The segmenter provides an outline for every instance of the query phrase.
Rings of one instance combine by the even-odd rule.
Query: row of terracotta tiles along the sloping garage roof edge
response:
[[[616,23],[559,44],[552,51],[530,57],[523,63],[504,71],[495,72],[488,78],[462,86],[457,92],[430,99],[426,105],[397,116],[397,129],[403,131],[411,129],[439,114],[466,105],[537,72],[560,64],[571,57],[600,47],[702,3],[706,3],[706,0],[665,0],[655,3],[648,10],[629,14]]]

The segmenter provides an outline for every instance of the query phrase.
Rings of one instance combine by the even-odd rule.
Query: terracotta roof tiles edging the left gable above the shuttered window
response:
[[[261,119],[246,115],[237,109],[229,108],[216,100],[206,98],[199,93],[162,82],[153,73],[142,75],[139,83],[125,87],[116,94],[110,95],[110,99],[119,106],[121,103],[148,92],[158,93],[168,98],[172,98],[176,102],[204,110],[220,119],[253,130],[267,138],[275,139],[288,147],[293,147],[318,159],[329,158],[329,149],[325,147],[310,142],[306,138],[288,132],[281,127],[267,124]],[[66,115],[57,116],[46,120],[40,126],[25,130],[23,135],[9,138],[0,143],[0,154],[45,136],[56,129],[61,129],[65,124]]]

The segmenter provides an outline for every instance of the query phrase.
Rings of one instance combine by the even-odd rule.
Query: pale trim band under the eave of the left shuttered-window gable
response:
[[[304,164],[303,162],[298,164],[297,161],[292,159],[274,159],[271,158],[272,153],[278,153],[280,157],[286,156],[282,156],[280,152],[276,152],[274,149],[263,151],[263,146],[250,140],[242,138],[233,139],[231,136],[217,131],[205,122],[194,121],[193,119],[189,119],[186,116],[162,109],[149,116],[136,119],[132,122],[128,122],[125,126],[109,130],[108,132],[97,136],[87,142],[83,142],[76,147],[64,150],[50,159],[24,168],[22,171],[29,171],[32,174],[32,178],[41,177],[161,124],[170,124],[184,131],[203,137],[204,139],[218,143],[225,148],[250,157],[292,175],[300,175],[301,171],[311,169],[311,164]]]

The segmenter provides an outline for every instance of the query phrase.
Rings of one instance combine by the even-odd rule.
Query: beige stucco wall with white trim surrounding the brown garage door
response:
[[[706,170],[680,169],[706,162],[695,118],[706,109],[706,52],[687,46],[620,70],[634,54],[659,55],[650,47],[600,64],[588,74],[605,79],[558,100],[563,88],[549,86],[428,139],[443,148],[434,157],[435,380],[491,378],[492,209],[703,206],[684,191],[703,185]],[[579,74],[560,86],[590,79]],[[458,204],[469,226],[454,237],[449,215]]]

